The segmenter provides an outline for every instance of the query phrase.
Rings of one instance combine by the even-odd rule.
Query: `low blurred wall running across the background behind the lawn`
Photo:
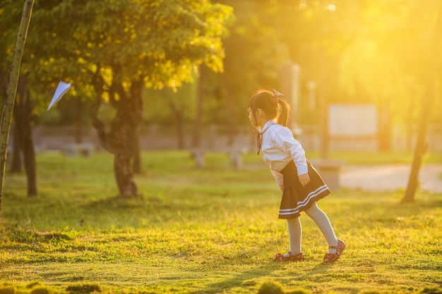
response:
[[[190,149],[192,143],[191,127],[185,128],[184,148]],[[321,133],[317,128],[302,127],[302,133],[297,136],[304,149],[309,151],[319,151],[321,149]],[[93,128],[83,129],[83,143],[92,146],[92,149],[101,149],[97,135]],[[140,130],[141,148],[143,150],[177,149],[178,141],[176,130],[173,127],[143,126]],[[73,127],[42,127],[36,126],[33,130],[35,149],[37,152],[50,149],[64,150],[76,144],[75,128]],[[13,132],[9,139],[9,144],[13,142]],[[414,149],[417,130],[412,136],[407,136],[405,128],[396,125],[391,136],[391,147],[393,151],[405,151]],[[429,151],[442,152],[442,125],[431,125],[429,128]],[[202,130],[202,147],[207,149],[227,148],[228,137],[225,128],[211,125]],[[239,149],[256,150],[256,135],[251,127],[238,128],[234,137],[234,147]],[[330,151],[376,151],[378,142],[376,137],[330,137]]]

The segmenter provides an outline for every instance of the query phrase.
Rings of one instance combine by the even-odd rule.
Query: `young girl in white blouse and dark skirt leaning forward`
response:
[[[316,204],[329,195],[330,190],[286,127],[289,105],[280,99],[282,96],[276,90],[259,90],[249,101],[249,119],[253,127],[258,129],[258,154],[263,152],[263,159],[282,190],[279,218],[287,219],[289,231],[290,250],[285,255],[277,253],[273,260],[304,260],[299,216],[305,212],[328,243],[328,252],[323,261],[335,262],[345,249],[345,243],[336,238],[328,216]]]

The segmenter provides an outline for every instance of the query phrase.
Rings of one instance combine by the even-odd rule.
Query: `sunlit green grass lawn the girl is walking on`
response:
[[[314,154],[312,154],[314,157]],[[351,163],[407,162],[411,154],[334,154]],[[370,161],[364,162],[366,158]],[[306,216],[305,262],[277,219],[280,191],[261,157],[233,170],[225,154],[196,169],[186,152],[143,154],[141,196],[116,197],[112,157],[37,157],[39,196],[6,176],[0,294],[437,293],[442,288],[442,195],[339,190],[319,202],[347,250],[327,246]],[[439,155],[426,162],[440,162]],[[36,282],[37,281],[37,282]],[[439,289],[441,291],[441,289]]]

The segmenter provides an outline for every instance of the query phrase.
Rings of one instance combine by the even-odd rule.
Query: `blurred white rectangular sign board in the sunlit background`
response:
[[[328,109],[328,132],[332,136],[361,137],[378,133],[373,104],[332,104]]]

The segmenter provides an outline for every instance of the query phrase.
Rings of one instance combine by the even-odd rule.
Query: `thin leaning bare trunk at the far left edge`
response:
[[[18,36],[16,46],[13,52],[11,63],[11,71],[8,80],[8,89],[6,90],[6,100],[1,115],[0,125],[0,212],[1,212],[1,198],[3,196],[3,185],[6,169],[6,154],[8,153],[9,130],[11,129],[12,114],[14,109],[14,102],[16,101],[16,92],[18,85],[18,76],[20,75],[21,58],[23,56],[23,48],[25,47],[26,36],[28,35],[28,27],[30,23],[30,16],[32,13],[32,6],[34,0],[26,0],[23,7],[23,14],[20,20],[20,28],[18,29]]]

